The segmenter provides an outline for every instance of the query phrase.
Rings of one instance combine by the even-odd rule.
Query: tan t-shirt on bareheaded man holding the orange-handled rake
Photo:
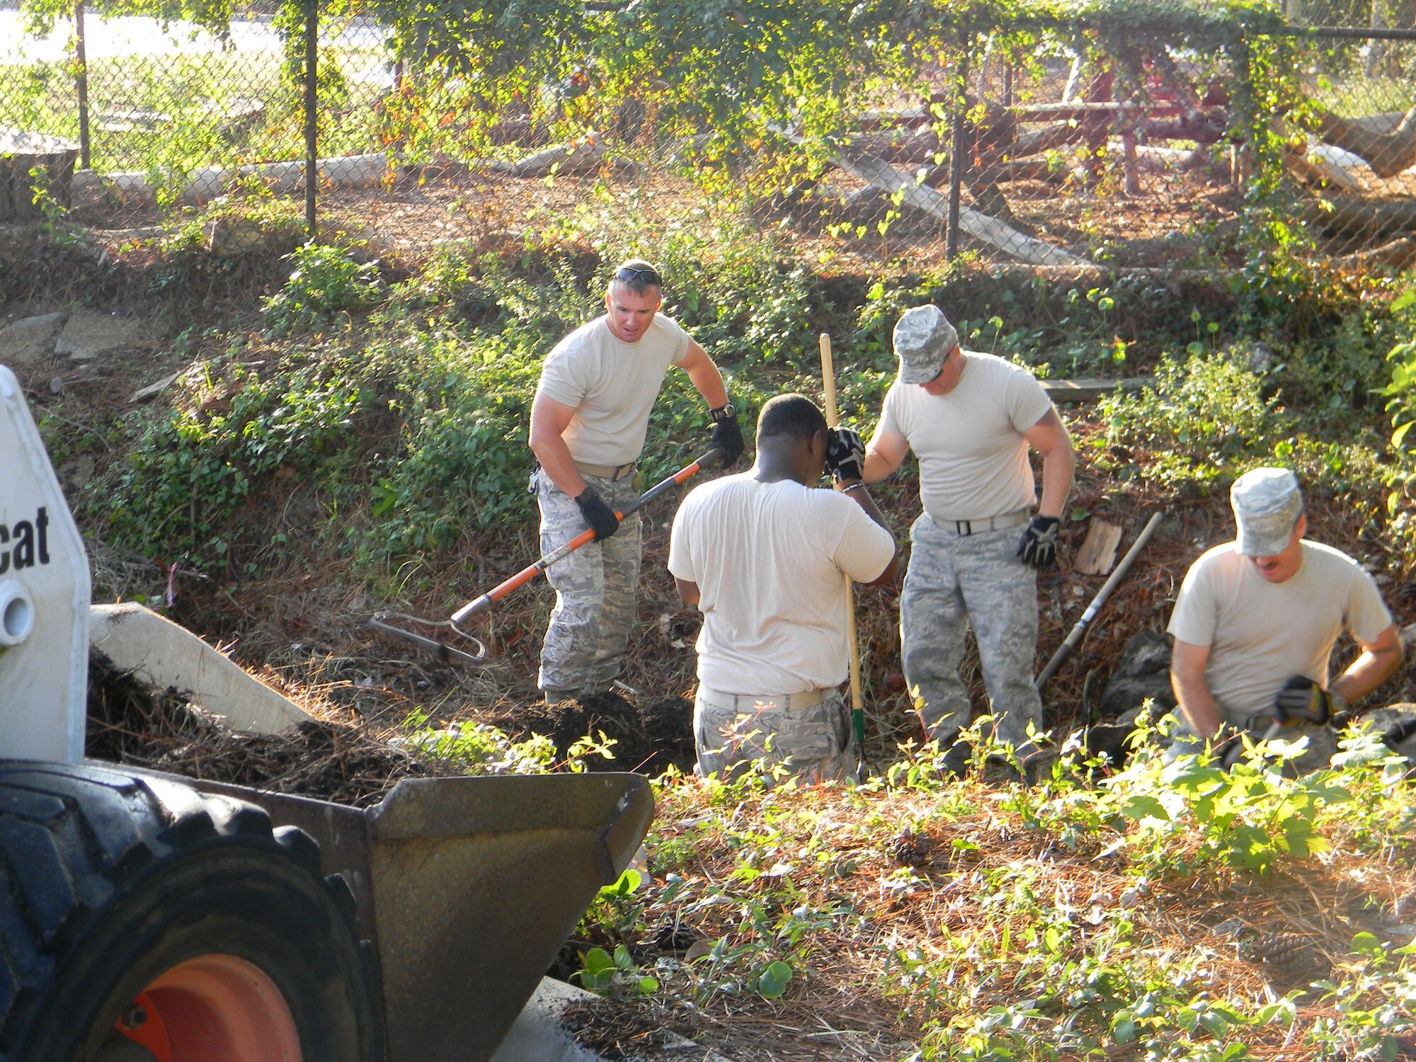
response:
[[[545,355],[537,394],[575,408],[562,435],[575,460],[629,464],[644,449],[664,372],[687,353],[688,333],[661,313],[637,343],[615,338],[609,321],[596,317]]]

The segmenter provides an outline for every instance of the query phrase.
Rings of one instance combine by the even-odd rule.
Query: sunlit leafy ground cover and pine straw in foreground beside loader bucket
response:
[[[666,777],[650,874],[581,927],[582,983],[708,1042],[742,1025],[773,1045],[792,1014],[869,1058],[1389,1058],[1416,1027],[1413,949],[1365,927],[1382,898],[1323,903],[1364,858],[1409,875],[1389,817],[1412,811],[1374,738],[1345,748],[1304,779],[1281,742],[1225,772],[1144,741],[1123,772],[1065,752],[1001,792],[910,748],[860,789]],[[1321,942],[1310,966],[1263,957],[1284,908]]]

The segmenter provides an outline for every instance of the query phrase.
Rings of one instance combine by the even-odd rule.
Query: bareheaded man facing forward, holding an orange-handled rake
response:
[[[537,684],[551,704],[590,697],[619,675],[634,624],[639,589],[639,513],[623,524],[616,510],[634,500],[634,463],[649,413],[670,365],[708,402],[709,446],[724,467],[742,456],[742,430],[722,374],[688,334],[658,313],[663,280],[639,259],[615,270],[605,316],[583,324],[547,354],[531,405],[531,449],[539,467],[531,490],[541,507],[541,552],[582,534],[595,542],[547,569],[555,609],[541,647]]]

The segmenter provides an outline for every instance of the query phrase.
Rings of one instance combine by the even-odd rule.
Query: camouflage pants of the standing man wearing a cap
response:
[[[919,688],[920,719],[930,735],[943,738],[969,725],[969,691],[959,678],[969,626],[998,741],[1022,749],[1028,724],[1042,728],[1042,700],[1032,685],[1037,576],[1015,555],[1020,534],[1021,528],[1008,527],[959,535],[927,515],[910,528],[899,636],[905,683]]]

